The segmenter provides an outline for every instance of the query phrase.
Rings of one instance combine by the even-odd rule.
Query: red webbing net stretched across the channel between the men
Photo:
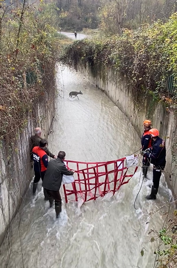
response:
[[[128,183],[137,171],[137,165],[127,167],[126,157],[109,162],[86,163],[65,160],[66,166],[74,173],[74,182],[64,184],[65,202],[68,200],[83,202],[103,197],[107,193],[115,194]]]

